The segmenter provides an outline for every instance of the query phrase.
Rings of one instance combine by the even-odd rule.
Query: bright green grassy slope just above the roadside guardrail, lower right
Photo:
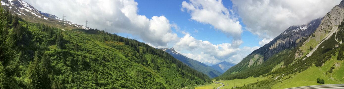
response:
[[[328,73],[326,75],[326,71],[329,70],[335,63],[341,63],[341,66],[336,67],[333,70],[333,73]],[[342,84],[344,83],[344,81],[342,81],[344,76],[344,68],[342,64],[343,61],[336,60],[336,56],[333,56],[331,60],[325,62],[322,67],[311,66],[311,68],[302,71],[301,73],[289,74],[286,75],[286,77],[282,77],[281,80],[277,82],[277,84],[272,86],[272,88],[284,89],[291,87],[321,85],[316,83],[316,78],[324,79],[325,84]]]

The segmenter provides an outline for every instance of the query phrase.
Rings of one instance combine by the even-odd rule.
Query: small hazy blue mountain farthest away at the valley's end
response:
[[[227,71],[230,67],[233,67],[234,65],[236,65],[235,63],[231,63],[231,62],[221,62],[218,63],[216,65],[213,65],[212,68],[216,69],[217,71],[224,73],[225,71]]]

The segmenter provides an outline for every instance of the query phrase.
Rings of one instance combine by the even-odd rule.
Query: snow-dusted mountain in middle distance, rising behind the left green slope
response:
[[[161,49],[163,51],[169,53],[170,55],[172,55],[174,58],[180,60],[185,65],[187,65],[187,66],[189,66],[189,67],[191,67],[197,71],[200,71],[203,74],[208,75],[210,78],[214,78],[214,77],[217,77],[217,76],[222,74],[221,72],[215,70],[211,66],[205,65],[201,62],[198,62],[197,60],[187,58],[187,57],[183,56],[182,54],[179,54],[178,52],[176,52],[174,50],[174,48],[161,48]]]

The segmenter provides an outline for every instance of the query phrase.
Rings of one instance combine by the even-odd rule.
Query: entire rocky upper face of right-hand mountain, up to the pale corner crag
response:
[[[344,2],[342,1],[323,18],[313,20],[304,25],[290,26],[286,31],[281,33],[270,43],[255,50],[250,55],[245,57],[240,63],[234,66],[234,68],[232,67],[227,71],[237,72],[252,66],[254,67],[256,65],[260,65],[260,58],[263,58],[265,62],[272,55],[288,48],[294,48],[298,44],[301,44],[302,46],[297,49],[295,58],[305,56],[309,54],[309,52],[312,52],[309,51],[310,46],[313,48],[316,47],[325,37],[329,37],[329,35],[336,32],[338,25],[344,23],[343,18]]]

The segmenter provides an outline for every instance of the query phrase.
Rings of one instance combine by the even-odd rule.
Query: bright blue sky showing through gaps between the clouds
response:
[[[213,44],[232,43],[232,37],[227,37],[221,31],[214,29],[212,25],[190,20],[190,14],[181,11],[181,3],[183,1],[185,0],[137,0],[136,2],[138,3],[138,13],[140,15],[146,15],[147,18],[163,15],[171,22],[173,21],[176,23],[180,27],[180,30],[189,32],[191,36],[198,40],[209,41]],[[227,8],[232,8],[233,5],[230,0],[224,0],[223,4]],[[240,22],[240,24],[245,27],[245,24],[242,22]],[[182,33],[176,32],[175,29],[172,30],[177,33],[179,37],[184,36]],[[129,35],[131,38],[140,39],[139,37],[127,33],[119,33],[119,35],[124,37]],[[240,45],[240,48],[244,46],[259,46],[258,42],[262,40],[258,38],[257,35],[253,35],[251,32],[245,30],[241,35],[244,43]]]

